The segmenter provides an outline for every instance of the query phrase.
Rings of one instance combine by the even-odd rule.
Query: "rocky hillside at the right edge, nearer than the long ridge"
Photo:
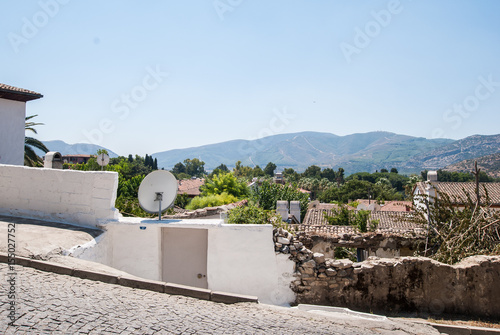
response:
[[[473,135],[442,147],[416,155],[408,166],[436,170],[463,160],[470,160],[500,152],[500,135]]]

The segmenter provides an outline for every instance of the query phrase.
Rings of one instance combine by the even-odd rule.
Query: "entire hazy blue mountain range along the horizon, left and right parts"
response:
[[[57,142],[57,143],[55,143]],[[95,153],[97,148],[79,152],[62,141],[49,141],[49,149],[62,154]],[[63,146],[66,145],[67,147]],[[57,145],[56,145],[57,144]],[[114,152],[107,149],[110,155]],[[426,139],[390,132],[369,132],[338,136],[331,133],[301,132],[279,134],[257,140],[233,140],[199,147],[174,149],[152,154],[158,166],[171,169],[185,159],[198,158],[211,170],[221,163],[262,168],[273,162],[278,169],[303,171],[311,165],[322,168],[342,167],[347,174],[397,168],[400,173],[419,173],[424,169],[440,169],[466,159],[500,153],[500,135],[473,135],[460,140]]]

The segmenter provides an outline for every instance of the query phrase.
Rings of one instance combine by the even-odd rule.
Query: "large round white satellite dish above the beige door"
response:
[[[161,213],[173,205],[177,196],[177,179],[165,170],[156,170],[144,178],[139,186],[139,205],[148,213]]]

